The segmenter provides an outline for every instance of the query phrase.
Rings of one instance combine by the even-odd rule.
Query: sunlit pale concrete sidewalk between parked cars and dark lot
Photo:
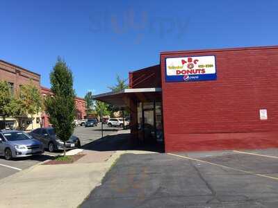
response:
[[[33,166],[0,180],[0,207],[78,207],[124,153],[150,152],[83,150],[74,164]]]

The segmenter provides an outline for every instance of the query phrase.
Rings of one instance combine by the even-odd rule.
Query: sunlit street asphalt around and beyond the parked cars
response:
[[[107,127],[107,125],[104,125],[104,137],[106,135],[117,134],[118,130],[122,130],[122,129],[109,128]],[[77,126],[74,129],[74,135],[79,137],[81,141],[81,146],[84,146],[85,144],[89,144],[90,142],[101,138],[101,124],[99,123],[96,127],[90,127],[90,128]],[[47,150],[45,150],[45,153],[43,155],[16,158],[10,161],[7,161],[3,157],[0,157],[0,179],[3,177],[7,177],[9,175],[13,175],[18,171],[22,171],[25,168],[29,168],[47,159],[54,158],[57,155],[60,155],[61,153],[63,153],[63,151],[58,151],[56,153],[49,153]]]

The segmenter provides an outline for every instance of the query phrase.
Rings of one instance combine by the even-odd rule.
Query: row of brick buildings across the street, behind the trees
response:
[[[33,81],[34,85],[41,89],[42,96],[51,93],[50,89],[40,86],[40,74],[24,69],[15,64],[0,60],[0,80],[6,80],[10,84],[10,88],[13,94],[19,89],[21,85],[26,85]],[[85,117],[85,101],[83,98],[76,97],[76,119],[84,119]],[[0,118],[0,124],[1,124]],[[6,125],[13,125],[15,128],[31,130],[33,122],[33,128],[39,128],[40,126],[48,126],[49,121],[47,115],[44,112],[34,116],[32,121],[31,116],[22,116],[16,118],[7,118]],[[1,126],[1,125],[0,125]]]

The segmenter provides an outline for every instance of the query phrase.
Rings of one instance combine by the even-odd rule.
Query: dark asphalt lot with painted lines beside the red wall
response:
[[[278,150],[122,155],[81,207],[278,207]]]

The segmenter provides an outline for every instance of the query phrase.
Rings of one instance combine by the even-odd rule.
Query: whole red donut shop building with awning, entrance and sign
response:
[[[163,52],[95,98],[129,107],[134,140],[163,132],[166,152],[277,147],[278,46]]]

